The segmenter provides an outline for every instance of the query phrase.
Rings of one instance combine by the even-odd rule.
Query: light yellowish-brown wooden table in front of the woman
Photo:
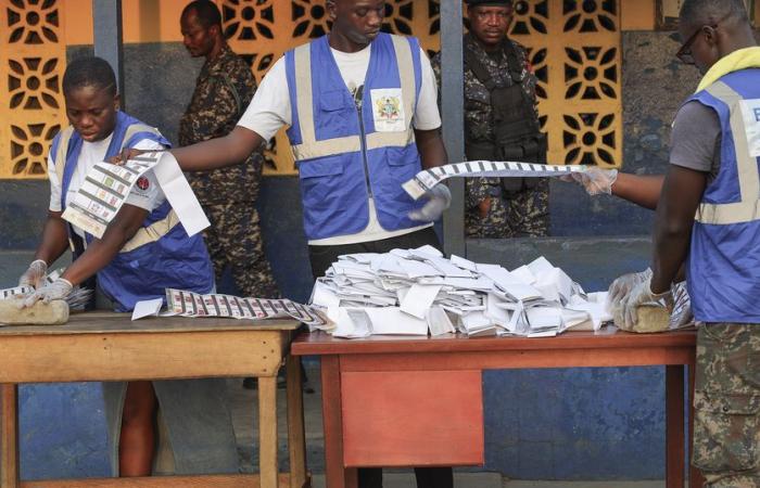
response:
[[[304,487],[300,358],[293,320],[155,318],[89,312],[66,325],[0,326],[0,488]],[[290,473],[277,465],[277,372],[287,360]],[[259,474],[20,481],[17,384],[256,376]]]

